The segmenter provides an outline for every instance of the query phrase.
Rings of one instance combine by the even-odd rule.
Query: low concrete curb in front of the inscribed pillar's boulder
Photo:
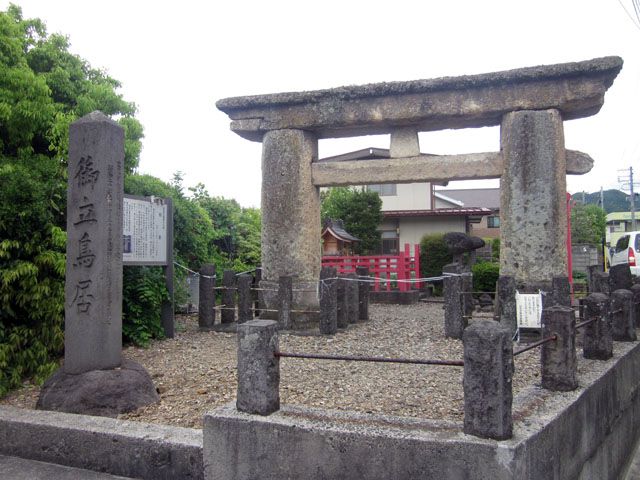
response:
[[[146,480],[204,477],[201,430],[62,412],[0,406],[0,454]]]

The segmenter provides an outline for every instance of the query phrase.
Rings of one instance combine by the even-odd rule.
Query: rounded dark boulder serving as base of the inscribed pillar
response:
[[[160,401],[147,371],[124,359],[118,368],[80,374],[60,368],[42,386],[36,408],[116,417]]]

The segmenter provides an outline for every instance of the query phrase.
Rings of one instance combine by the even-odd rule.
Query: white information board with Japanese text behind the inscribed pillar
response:
[[[122,223],[125,265],[167,264],[167,205],[162,199],[125,197]]]

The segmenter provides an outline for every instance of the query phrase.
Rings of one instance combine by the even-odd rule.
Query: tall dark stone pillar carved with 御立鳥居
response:
[[[69,127],[67,373],[115,368],[122,351],[124,130],[101,112]]]

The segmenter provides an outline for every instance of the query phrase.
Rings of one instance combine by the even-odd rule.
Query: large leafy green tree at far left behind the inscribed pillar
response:
[[[68,126],[93,110],[125,129],[125,167],[142,127],[119,83],[68,51],[19,7],[0,12],[0,395],[46,378],[63,347]]]

